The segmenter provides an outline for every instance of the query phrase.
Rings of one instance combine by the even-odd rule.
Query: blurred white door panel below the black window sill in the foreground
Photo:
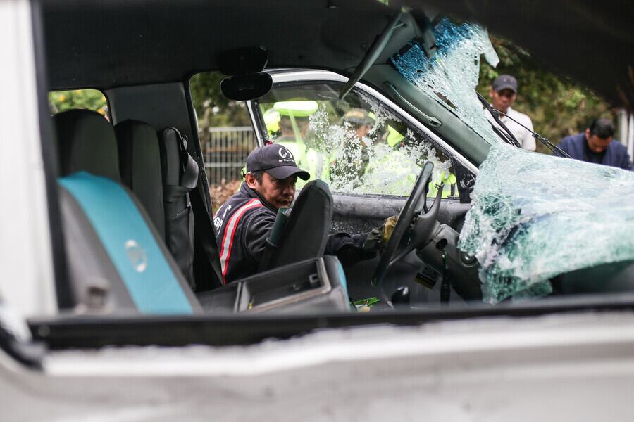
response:
[[[375,326],[247,347],[2,355],[7,421],[623,421],[630,312]]]

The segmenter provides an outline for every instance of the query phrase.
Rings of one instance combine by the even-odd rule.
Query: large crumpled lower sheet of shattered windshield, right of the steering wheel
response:
[[[540,297],[559,274],[634,260],[632,172],[498,143],[471,198],[459,248],[480,262],[485,302]]]

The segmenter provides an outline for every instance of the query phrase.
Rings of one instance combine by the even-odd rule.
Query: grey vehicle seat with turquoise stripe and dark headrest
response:
[[[75,310],[192,314],[199,304],[151,218],[120,184],[113,127],[89,110],[54,116],[60,207]]]

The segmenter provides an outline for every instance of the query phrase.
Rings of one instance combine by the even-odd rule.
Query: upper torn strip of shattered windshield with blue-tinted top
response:
[[[483,112],[475,87],[480,74],[480,56],[490,65],[499,62],[487,30],[480,25],[455,25],[443,18],[434,28],[437,50],[428,58],[423,46],[410,41],[406,51],[397,53],[392,63],[416,87],[452,110],[488,143],[499,137]]]

